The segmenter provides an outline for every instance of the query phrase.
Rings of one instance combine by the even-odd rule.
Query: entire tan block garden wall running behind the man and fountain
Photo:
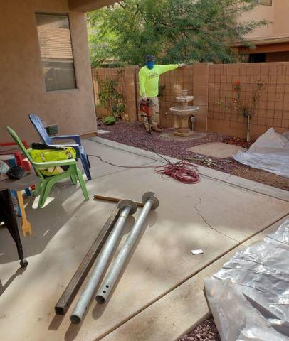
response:
[[[123,69],[97,69],[100,77],[115,77],[122,72],[120,92],[127,102],[124,119],[142,121],[137,102],[139,100],[138,67]],[[188,89],[194,95],[194,104],[198,106],[196,131],[209,131],[246,138],[246,118],[225,103],[236,97],[233,82],[241,83],[240,96],[246,105],[251,106],[252,90],[258,80],[264,84],[258,99],[256,112],[251,119],[251,139],[257,139],[273,126],[282,134],[289,130],[289,63],[240,63],[211,64],[195,63],[184,68],[161,75],[159,85],[164,85],[159,97],[160,123],[164,127],[174,126],[174,117],[169,108],[179,105],[176,97],[182,89]],[[98,85],[93,77],[95,99],[98,102]],[[218,105],[218,102],[224,105]],[[107,112],[98,109],[103,116]]]

